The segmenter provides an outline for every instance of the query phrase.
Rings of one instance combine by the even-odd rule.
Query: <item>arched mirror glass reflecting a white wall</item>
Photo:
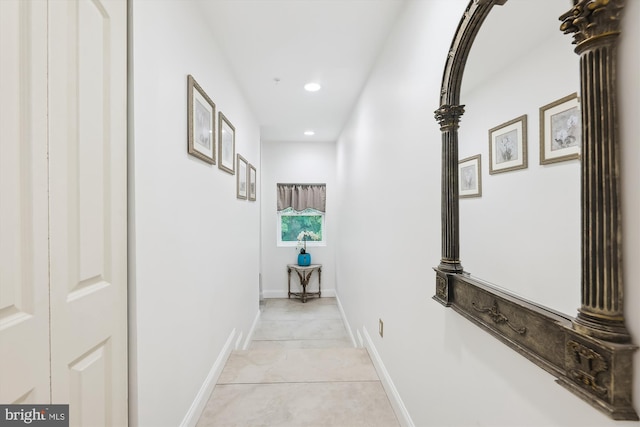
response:
[[[540,162],[540,108],[580,91],[578,55],[559,30],[558,17],[570,7],[568,1],[509,0],[492,9],[465,68],[458,155],[480,154],[481,165],[481,195],[460,200],[465,272],[575,315],[580,163]],[[490,130],[512,121],[515,127],[494,131],[502,139],[500,147],[493,139],[490,156]]]

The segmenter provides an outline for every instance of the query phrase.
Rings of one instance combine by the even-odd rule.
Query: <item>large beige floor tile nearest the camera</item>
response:
[[[396,427],[380,382],[218,385],[199,427]]]

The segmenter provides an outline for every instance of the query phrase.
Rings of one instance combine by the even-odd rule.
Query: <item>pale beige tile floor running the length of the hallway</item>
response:
[[[336,299],[292,298],[265,300],[249,349],[229,357],[198,426],[399,424]]]

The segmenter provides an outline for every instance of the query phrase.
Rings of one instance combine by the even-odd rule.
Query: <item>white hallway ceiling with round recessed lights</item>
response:
[[[266,142],[337,140],[404,4],[200,1]],[[322,89],[307,92],[308,82]]]

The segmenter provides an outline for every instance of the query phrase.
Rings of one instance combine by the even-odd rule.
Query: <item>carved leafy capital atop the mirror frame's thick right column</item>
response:
[[[560,30],[575,33],[573,43],[620,32],[620,15],[624,0],[579,0],[560,17]]]

